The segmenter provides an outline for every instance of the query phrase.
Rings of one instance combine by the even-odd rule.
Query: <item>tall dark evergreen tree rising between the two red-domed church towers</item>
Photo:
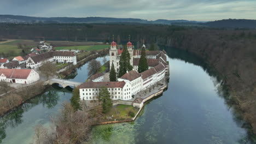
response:
[[[125,45],[119,61],[118,77],[123,76],[126,73],[126,71],[132,70],[130,59],[131,59],[130,53],[127,49],[127,46]]]

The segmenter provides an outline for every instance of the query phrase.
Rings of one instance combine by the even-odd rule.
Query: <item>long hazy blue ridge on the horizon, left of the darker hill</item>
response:
[[[148,21],[143,19],[132,18],[113,18],[113,17],[33,17],[22,15],[0,15],[0,22],[8,23],[116,23],[116,22],[129,22],[129,23],[153,23],[171,25],[174,22],[191,22],[197,23],[198,21],[188,20],[155,20]]]

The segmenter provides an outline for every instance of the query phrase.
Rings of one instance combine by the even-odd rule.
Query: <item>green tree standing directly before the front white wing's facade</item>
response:
[[[112,107],[112,100],[107,87],[102,87],[98,93],[98,100],[102,101],[102,112],[108,113]]]

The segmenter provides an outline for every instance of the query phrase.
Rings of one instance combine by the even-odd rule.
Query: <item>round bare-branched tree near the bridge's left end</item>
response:
[[[47,77],[47,79],[49,79],[50,76],[57,74],[56,65],[53,63],[44,63],[41,67],[39,67],[39,70],[43,75]]]

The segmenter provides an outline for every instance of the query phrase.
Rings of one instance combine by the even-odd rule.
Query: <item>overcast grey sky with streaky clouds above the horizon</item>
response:
[[[0,14],[196,21],[256,19],[256,0],[0,0]]]

